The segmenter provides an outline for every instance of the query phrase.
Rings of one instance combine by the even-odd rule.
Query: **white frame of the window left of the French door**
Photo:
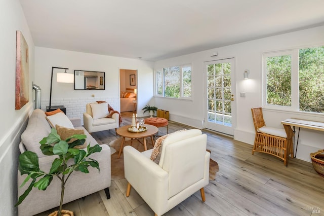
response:
[[[164,77],[164,68],[170,68],[170,67],[179,67],[180,71],[180,97],[166,97],[165,96],[165,77]],[[191,80],[191,97],[184,97],[183,96],[183,68],[184,67],[190,67],[191,68],[191,74],[190,74],[190,80]],[[162,94],[158,94],[158,83],[157,83],[157,72],[161,73],[161,82],[162,82]],[[173,65],[173,66],[166,66],[161,67],[158,69],[154,69],[154,96],[156,97],[163,97],[163,98],[170,98],[170,99],[182,99],[182,100],[191,100],[192,99],[192,65],[191,64],[182,64],[182,65]]]

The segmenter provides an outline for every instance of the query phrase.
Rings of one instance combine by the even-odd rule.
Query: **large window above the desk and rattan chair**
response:
[[[324,113],[324,46],[263,55],[264,105]]]

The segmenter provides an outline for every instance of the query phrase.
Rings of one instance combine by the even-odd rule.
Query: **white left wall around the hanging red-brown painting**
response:
[[[16,215],[18,144],[32,110],[34,44],[18,0],[0,1],[0,214]],[[16,30],[20,30],[29,49],[29,102],[15,110]]]

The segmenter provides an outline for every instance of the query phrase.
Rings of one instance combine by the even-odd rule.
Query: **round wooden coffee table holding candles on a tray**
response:
[[[152,145],[154,146],[153,135],[158,132],[157,127],[155,127],[153,125],[145,125],[145,124],[143,126],[147,127],[147,130],[144,132],[130,132],[130,131],[128,131],[128,128],[131,127],[131,125],[126,125],[126,126],[117,128],[116,133],[119,136],[123,136],[123,139],[121,139],[121,145],[120,145],[119,154],[118,154],[117,158],[120,158],[120,154],[123,151],[125,142],[132,142],[134,140],[138,140],[139,142],[141,142],[140,139],[143,138],[143,142],[141,142],[141,143],[144,145],[144,151],[146,151],[147,150],[146,137],[151,137]],[[131,140],[125,141],[126,137],[131,138]]]

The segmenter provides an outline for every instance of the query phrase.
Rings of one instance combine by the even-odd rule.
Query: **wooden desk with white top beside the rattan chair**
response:
[[[286,119],[284,121],[281,121],[281,124],[284,125],[285,131],[287,133],[288,147],[291,147],[291,145],[293,145],[293,137],[294,137],[295,127],[299,127],[297,145],[296,145],[296,154],[297,154],[297,148],[298,148],[298,139],[299,139],[300,128],[308,128],[308,129],[312,129],[312,130],[324,131],[324,122],[316,122],[316,121],[309,121],[309,120],[304,120],[304,119],[291,118],[291,119]],[[293,126],[293,129],[291,126]],[[293,145],[293,147],[294,147],[293,154],[294,154],[294,157],[296,157],[295,145]],[[287,157],[287,165],[288,165],[288,158],[289,157]]]

